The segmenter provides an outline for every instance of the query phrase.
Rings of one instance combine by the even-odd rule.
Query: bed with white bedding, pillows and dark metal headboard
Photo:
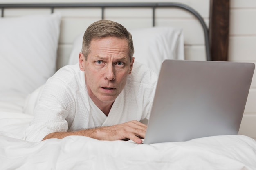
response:
[[[52,14],[4,17],[7,9],[49,8]],[[69,136],[42,142],[25,140],[25,129],[45,81],[65,64],[75,64],[82,34],[74,39],[68,58],[57,57],[61,13],[58,8],[100,8],[101,18],[108,7],[178,7],[198,18],[204,30],[205,60],[217,60],[210,50],[208,30],[191,7],[178,3],[124,4],[0,4],[0,169],[256,169],[256,141],[245,135],[223,135],[186,142],[134,144],[127,141],[99,141]],[[192,10],[191,10],[192,9]],[[211,25],[212,28],[213,25]],[[181,28],[130,29],[135,57],[159,72],[164,59],[185,59]],[[213,30],[209,31],[214,35]],[[226,39],[225,39],[226,41]],[[225,43],[227,44],[227,42]],[[224,49],[225,50],[225,49]],[[157,58],[155,56],[158,56]],[[220,58],[218,60],[225,60]]]

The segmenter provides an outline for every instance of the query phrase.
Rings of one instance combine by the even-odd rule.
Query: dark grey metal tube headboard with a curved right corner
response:
[[[101,18],[104,19],[104,9],[107,7],[150,7],[152,8],[153,17],[152,17],[152,25],[155,26],[155,9],[161,7],[177,7],[180,9],[184,9],[193,14],[200,24],[202,25],[204,31],[204,41],[205,41],[205,49],[206,49],[206,58],[208,61],[211,61],[210,47],[209,47],[209,33],[208,28],[201,17],[201,15],[195,11],[195,9],[181,3],[46,3],[46,4],[0,4],[0,8],[2,9],[1,17],[4,17],[4,9],[7,8],[50,8],[52,13],[54,12],[54,8],[67,8],[67,7],[99,7],[101,8]]]

